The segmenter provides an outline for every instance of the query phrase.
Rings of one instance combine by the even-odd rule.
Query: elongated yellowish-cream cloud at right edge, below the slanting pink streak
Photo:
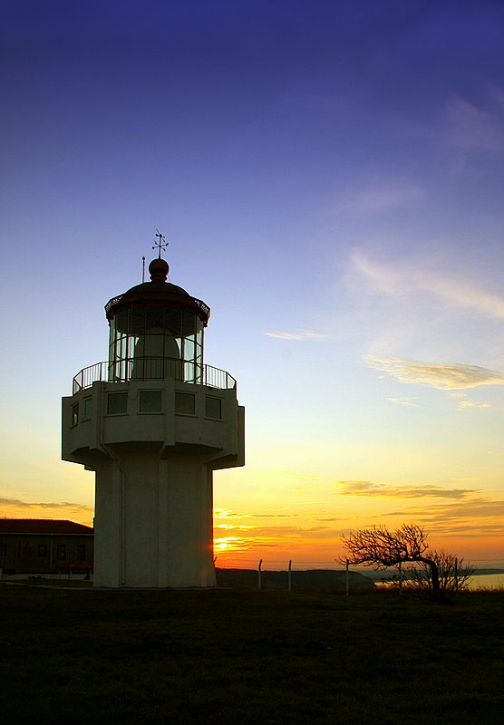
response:
[[[379,358],[374,355],[366,355],[364,360],[369,367],[386,372],[400,382],[428,385],[442,391],[504,383],[503,373],[487,370],[478,365],[463,365],[456,362],[450,364],[411,362],[401,358]]]

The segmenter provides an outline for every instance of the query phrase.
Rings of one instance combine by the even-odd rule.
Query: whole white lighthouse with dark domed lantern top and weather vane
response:
[[[95,471],[95,586],[215,586],[213,471],[245,462],[236,381],[203,361],[209,308],[157,247],[150,282],[105,305],[108,361],[63,398],[62,458]]]

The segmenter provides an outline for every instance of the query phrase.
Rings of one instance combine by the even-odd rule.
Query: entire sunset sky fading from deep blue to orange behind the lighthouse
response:
[[[61,397],[159,228],[247,411],[218,565],[410,521],[503,565],[503,37],[500,0],[4,4],[0,516],[92,523]]]

